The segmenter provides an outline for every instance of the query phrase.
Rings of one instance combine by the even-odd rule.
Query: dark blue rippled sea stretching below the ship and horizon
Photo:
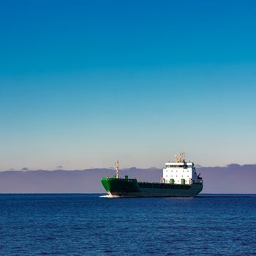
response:
[[[0,255],[256,255],[256,195],[0,195]]]

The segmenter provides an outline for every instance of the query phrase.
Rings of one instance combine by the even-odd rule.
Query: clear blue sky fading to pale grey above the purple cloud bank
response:
[[[0,170],[256,163],[256,1],[0,1]]]

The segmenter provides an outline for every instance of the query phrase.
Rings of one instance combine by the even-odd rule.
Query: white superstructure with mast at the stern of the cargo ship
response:
[[[184,153],[176,156],[176,162],[166,162],[162,172],[164,183],[191,185],[194,182],[201,182],[197,176],[193,162],[186,162]]]

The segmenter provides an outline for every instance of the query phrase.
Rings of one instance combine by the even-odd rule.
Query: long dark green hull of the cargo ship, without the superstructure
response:
[[[138,182],[133,178],[102,178],[109,195],[128,197],[195,197],[203,189],[202,183],[192,185]]]

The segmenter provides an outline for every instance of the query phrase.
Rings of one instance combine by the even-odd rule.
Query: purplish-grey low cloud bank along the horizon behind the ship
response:
[[[256,165],[198,167],[203,193],[256,193]],[[0,172],[0,193],[104,193],[100,179],[115,174],[113,169],[8,170]],[[121,170],[121,176],[159,182],[162,169]]]

